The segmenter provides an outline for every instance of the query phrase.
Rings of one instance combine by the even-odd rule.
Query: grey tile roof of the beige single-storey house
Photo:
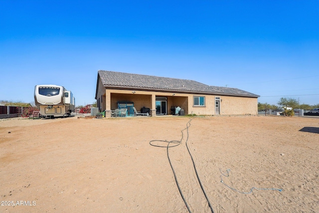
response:
[[[259,95],[246,92],[244,90],[208,86],[193,80],[158,77],[151,75],[132,74],[124,72],[113,72],[99,70],[98,75],[105,87],[110,88],[128,88],[141,90],[159,90],[169,92],[183,93],[203,93],[216,95],[244,96],[244,97],[259,97]]]

